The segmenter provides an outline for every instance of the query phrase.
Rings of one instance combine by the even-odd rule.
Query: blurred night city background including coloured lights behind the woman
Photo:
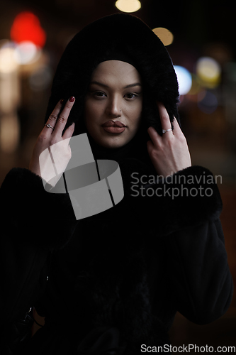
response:
[[[179,113],[192,163],[222,176],[218,179],[223,199],[220,219],[235,281],[236,11],[232,0],[1,0],[0,182],[13,167],[28,168],[43,128],[52,78],[69,40],[91,21],[122,11],[145,21],[167,46],[179,80]],[[127,35],[135,36],[132,28]],[[178,314],[170,337],[176,345],[236,346],[236,296],[225,316],[212,324],[198,326]]]

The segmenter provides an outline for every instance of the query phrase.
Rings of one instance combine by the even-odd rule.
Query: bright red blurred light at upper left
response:
[[[11,39],[20,43],[30,40],[38,47],[45,45],[46,33],[40,26],[40,21],[33,13],[24,11],[19,13],[11,26]]]

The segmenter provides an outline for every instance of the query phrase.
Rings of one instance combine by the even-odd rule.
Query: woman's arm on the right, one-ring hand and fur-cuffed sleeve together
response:
[[[172,134],[167,110],[160,103],[157,106],[166,133],[161,137],[150,127],[147,151],[157,173],[166,178],[164,184],[157,184],[161,197],[154,213],[162,216],[158,231],[167,251],[170,292],[176,310],[204,324],[223,315],[232,300],[219,219],[222,201],[210,171],[191,167],[186,138],[176,119]]]

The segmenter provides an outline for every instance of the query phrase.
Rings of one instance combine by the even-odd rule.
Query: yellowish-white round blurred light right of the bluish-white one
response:
[[[220,73],[220,65],[213,58],[202,57],[196,62],[196,74],[205,87],[217,87],[220,83]]]

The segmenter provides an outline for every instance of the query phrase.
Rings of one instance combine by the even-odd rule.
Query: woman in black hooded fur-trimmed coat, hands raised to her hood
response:
[[[167,50],[135,16],[101,18],[67,45],[29,170],[1,187],[5,352],[33,305],[45,326],[23,354],[140,354],[169,344],[176,311],[197,324],[226,312],[222,202],[210,171],[191,166],[178,96]],[[45,192],[38,160],[63,141],[65,167],[81,133],[96,160],[119,163],[124,198],[77,221],[68,194]]]

